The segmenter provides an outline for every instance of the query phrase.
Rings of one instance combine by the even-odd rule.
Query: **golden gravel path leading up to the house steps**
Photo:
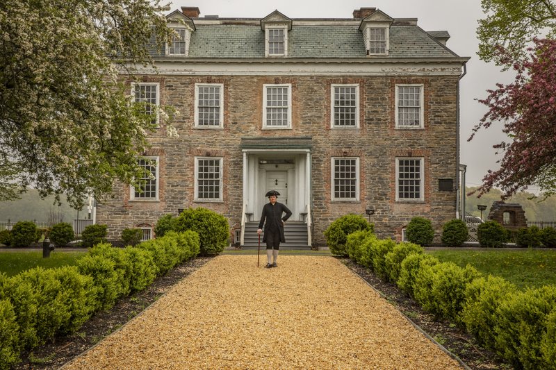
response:
[[[278,265],[213,258],[63,369],[461,369],[336,258]]]

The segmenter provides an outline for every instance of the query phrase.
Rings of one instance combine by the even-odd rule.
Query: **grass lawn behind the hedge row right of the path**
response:
[[[432,250],[427,253],[434,255],[441,262],[455,262],[461,267],[471,264],[482,274],[500,276],[521,289],[556,285],[556,250],[554,249]]]

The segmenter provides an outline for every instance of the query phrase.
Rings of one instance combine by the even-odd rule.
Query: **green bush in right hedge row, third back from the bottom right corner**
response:
[[[462,269],[453,262],[422,267],[415,278],[415,299],[436,317],[461,322],[459,312],[465,302],[467,285],[479,276],[470,265]]]

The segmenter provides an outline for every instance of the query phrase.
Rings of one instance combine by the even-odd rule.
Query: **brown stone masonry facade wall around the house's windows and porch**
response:
[[[161,127],[152,134],[152,151],[160,156],[160,201],[130,201],[129,186],[120,185],[113,199],[100,200],[97,223],[108,224],[109,237],[119,239],[123,228],[156,224],[179,208],[209,208],[240,225],[243,204],[241,137],[312,137],[313,244],[324,245],[323,235],[334,219],[349,212],[365,215],[375,208],[371,221],[380,237],[400,239],[411,217],[432,220],[436,233],[455,218],[454,190],[439,191],[439,179],[457,178],[456,92],[457,76],[149,76],[161,86],[161,104],[179,111],[174,127],[179,137],[167,137]],[[224,128],[194,127],[195,83],[224,84]],[[263,84],[291,83],[292,129],[262,130]],[[330,127],[330,85],[359,84],[358,129]],[[395,129],[395,84],[424,85],[425,128]],[[195,155],[224,158],[223,201],[195,202]],[[357,156],[360,165],[360,201],[331,199],[330,158]],[[425,201],[395,201],[395,157],[425,158]]]

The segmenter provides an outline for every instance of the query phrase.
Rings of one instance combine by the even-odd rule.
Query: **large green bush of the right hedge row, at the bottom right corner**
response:
[[[517,369],[554,369],[554,362],[544,360],[543,338],[555,306],[554,285],[517,292],[502,301],[496,326],[498,353]]]

